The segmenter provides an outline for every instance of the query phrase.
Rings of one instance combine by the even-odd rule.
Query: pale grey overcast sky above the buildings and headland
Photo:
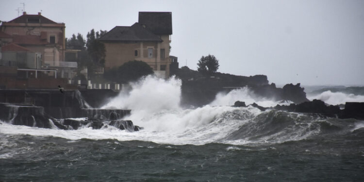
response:
[[[363,0],[0,0],[0,20],[16,9],[66,23],[66,37],[131,26],[139,11],[172,12],[171,55],[197,69],[264,74],[270,83],[364,84]],[[317,76],[317,77],[316,77]]]

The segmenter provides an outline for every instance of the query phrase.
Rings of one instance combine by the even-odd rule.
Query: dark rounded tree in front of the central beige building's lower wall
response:
[[[128,83],[153,74],[153,69],[143,61],[129,61],[104,73],[104,78],[118,83]]]

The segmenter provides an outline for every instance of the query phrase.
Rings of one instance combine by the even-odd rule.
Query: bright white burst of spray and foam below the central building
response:
[[[199,127],[218,120],[223,113],[237,109],[209,105],[182,109],[181,85],[181,80],[174,77],[164,80],[147,76],[132,83],[129,93],[120,93],[103,108],[131,109],[131,115],[124,119],[130,119],[134,124],[144,127],[142,132],[163,132],[168,135],[164,136],[166,138],[177,133],[198,130]]]

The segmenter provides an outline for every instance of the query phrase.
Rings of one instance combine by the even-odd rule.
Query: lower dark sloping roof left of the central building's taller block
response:
[[[162,39],[142,27],[139,23],[134,23],[131,27],[116,26],[108,33],[99,38],[101,41],[153,41],[162,42]]]

